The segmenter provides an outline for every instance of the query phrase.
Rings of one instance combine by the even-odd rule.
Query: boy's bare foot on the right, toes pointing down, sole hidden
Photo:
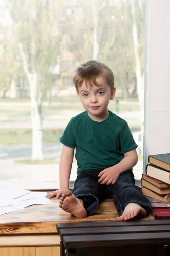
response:
[[[143,218],[147,215],[147,212],[137,203],[130,203],[124,209],[123,214],[116,218],[116,221],[127,221],[134,217]]]

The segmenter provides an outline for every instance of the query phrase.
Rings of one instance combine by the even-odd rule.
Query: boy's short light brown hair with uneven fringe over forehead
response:
[[[99,61],[88,61],[81,64],[76,69],[76,75],[73,78],[77,93],[79,93],[78,88],[82,86],[83,81],[85,81],[86,87],[100,86],[96,82],[97,76],[102,76],[105,83],[109,85],[111,90],[114,87],[114,75],[112,70],[104,63]]]

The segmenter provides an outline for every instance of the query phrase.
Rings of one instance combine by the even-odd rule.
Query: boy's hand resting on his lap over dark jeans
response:
[[[119,172],[114,166],[104,169],[98,175],[100,184],[111,185],[114,184],[119,177]]]

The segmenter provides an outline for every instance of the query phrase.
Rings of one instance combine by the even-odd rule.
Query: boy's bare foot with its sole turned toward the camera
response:
[[[71,191],[68,193],[68,189],[65,189],[65,193],[63,193],[60,197],[59,207],[62,208],[65,212],[69,212],[77,218],[85,218],[87,215],[83,201],[76,198],[75,195],[71,193]]]

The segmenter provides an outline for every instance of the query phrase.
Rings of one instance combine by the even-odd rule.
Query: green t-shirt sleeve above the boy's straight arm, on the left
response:
[[[74,131],[73,131],[72,119],[68,123],[62,137],[59,138],[59,140],[62,144],[64,144],[65,146],[67,146],[69,148],[76,147],[76,140],[75,140]]]

